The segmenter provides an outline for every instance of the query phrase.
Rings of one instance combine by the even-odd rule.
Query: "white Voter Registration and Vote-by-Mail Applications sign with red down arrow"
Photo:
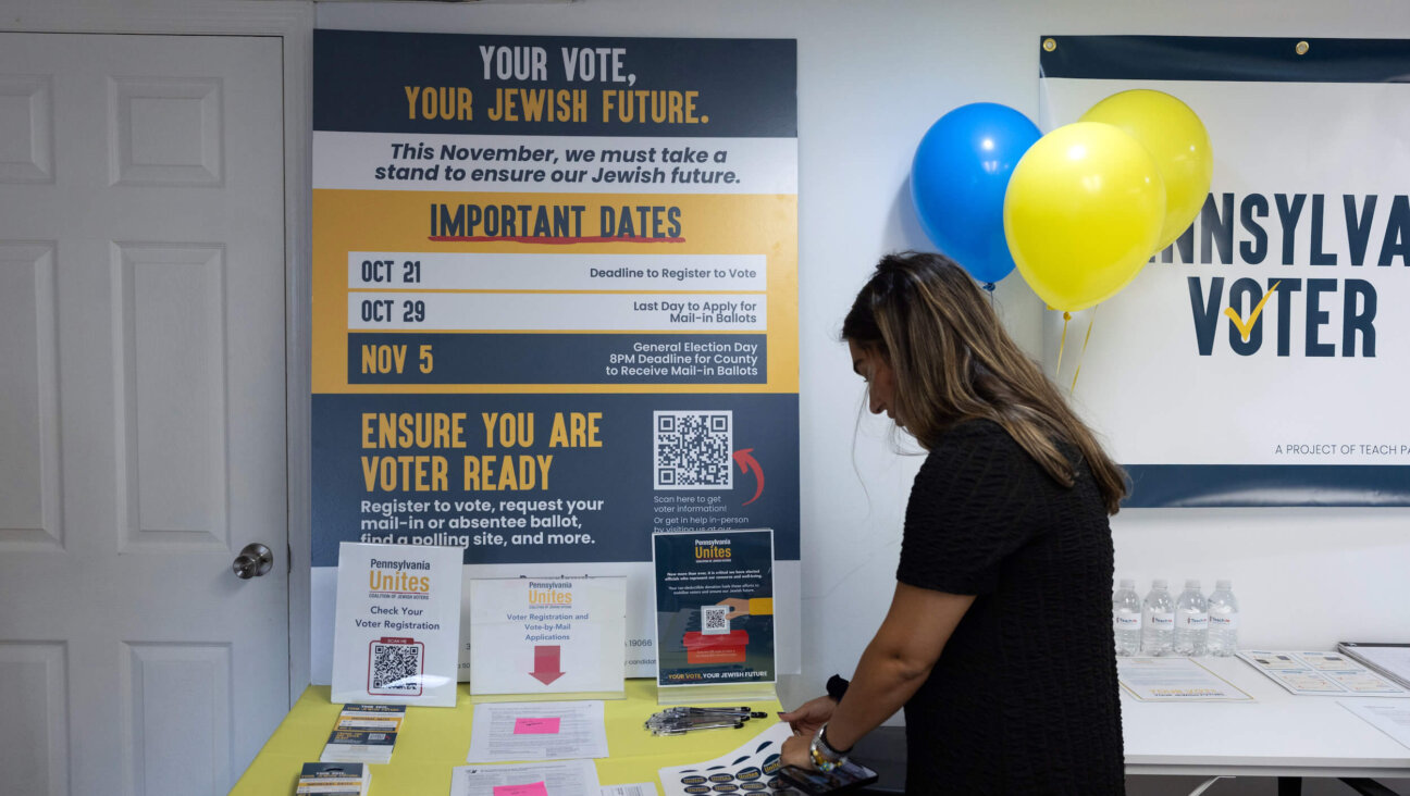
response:
[[[626,578],[475,579],[470,611],[470,693],[622,692]]]

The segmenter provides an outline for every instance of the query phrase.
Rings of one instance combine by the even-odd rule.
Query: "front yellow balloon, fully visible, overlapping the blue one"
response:
[[[1165,185],[1155,159],[1110,124],[1080,121],[1034,144],[1008,180],[1004,234],[1048,306],[1076,311],[1127,286],[1155,251]]]

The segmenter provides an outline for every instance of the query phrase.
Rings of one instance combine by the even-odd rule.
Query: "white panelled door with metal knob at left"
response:
[[[278,38],[0,34],[3,795],[226,793],[288,710],[282,141]]]

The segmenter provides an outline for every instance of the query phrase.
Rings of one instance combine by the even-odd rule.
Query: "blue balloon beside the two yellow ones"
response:
[[[1004,192],[1024,152],[1042,137],[1017,110],[960,106],[931,125],[911,162],[911,199],[931,241],[974,279],[1014,270],[1004,237]]]

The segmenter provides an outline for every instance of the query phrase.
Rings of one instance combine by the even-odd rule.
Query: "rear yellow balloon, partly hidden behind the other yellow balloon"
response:
[[[1151,151],[1165,180],[1165,221],[1156,249],[1175,242],[1204,207],[1214,175],[1210,134],[1200,117],[1170,94],[1134,89],[1091,106],[1080,121],[1120,127]]]

